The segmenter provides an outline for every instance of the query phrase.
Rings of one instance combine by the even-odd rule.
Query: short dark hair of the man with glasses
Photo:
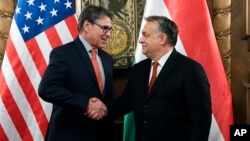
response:
[[[82,30],[84,21],[88,20],[90,23],[94,24],[97,19],[104,16],[113,20],[113,13],[104,7],[95,5],[86,6],[78,18],[78,31]]]

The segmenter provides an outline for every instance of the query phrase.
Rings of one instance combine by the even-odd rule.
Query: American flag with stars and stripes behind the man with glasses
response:
[[[73,0],[18,0],[0,71],[0,140],[44,140],[51,104],[37,94],[52,48],[78,35]]]

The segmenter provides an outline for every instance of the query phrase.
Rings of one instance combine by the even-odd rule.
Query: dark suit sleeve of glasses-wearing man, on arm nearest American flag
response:
[[[88,99],[80,93],[73,93],[64,88],[68,69],[65,57],[64,50],[60,47],[52,50],[49,65],[38,87],[38,94],[47,102],[83,115]]]

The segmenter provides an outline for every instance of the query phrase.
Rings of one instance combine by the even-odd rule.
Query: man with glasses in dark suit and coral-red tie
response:
[[[113,59],[102,48],[110,37],[113,14],[87,6],[79,16],[79,36],[57,47],[40,82],[39,96],[53,104],[46,141],[113,141],[111,120],[103,102],[112,98]],[[91,100],[97,97],[100,100]]]

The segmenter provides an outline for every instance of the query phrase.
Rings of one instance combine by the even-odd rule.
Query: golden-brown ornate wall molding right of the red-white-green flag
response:
[[[224,70],[231,83],[231,0],[213,1],[213,26]]]

